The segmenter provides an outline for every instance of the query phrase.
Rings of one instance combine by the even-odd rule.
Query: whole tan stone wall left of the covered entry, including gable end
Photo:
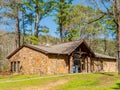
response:
[[[20,73],[23,74],[57,74],[68,73],[67,60],[67,56],[46,55],[42,52],[23,47],[9,59],[9,62],[20,61]]]

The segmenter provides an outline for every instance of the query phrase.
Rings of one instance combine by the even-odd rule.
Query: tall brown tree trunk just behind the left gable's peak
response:
[[[16,29],[15,29],[15,46],[16,48],[20,47],[20,30],[19,30],[19,10],[16,8]]]

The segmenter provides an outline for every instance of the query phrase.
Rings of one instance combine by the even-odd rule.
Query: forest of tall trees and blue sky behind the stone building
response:
[[[1,0],[0,71],[8,68],[6,56],[23,44],[83,38],[94,52],[117,57],[117,6],[119,0]]]

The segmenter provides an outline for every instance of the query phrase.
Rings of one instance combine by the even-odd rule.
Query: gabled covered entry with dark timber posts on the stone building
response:
[[[94,53],[86,45],[82,43],[77,47],[70,56],[70,72],[71,73],[87,73],[93,71],[92,57]]]

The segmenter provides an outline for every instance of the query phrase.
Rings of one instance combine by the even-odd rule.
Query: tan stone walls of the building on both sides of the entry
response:
[[[44,54],[27,47],[23,47],[9,59],[9,62],[13,61],[20,61],[20,73],[22,74],[69,73],[69,71],[72,72],[73,66],[73,58],[71,55]],[[85,58],[85,70],[83,70],[81,73],[101,71],[117,71],[116,60],[100,58],[91,59],[89,56]]]

